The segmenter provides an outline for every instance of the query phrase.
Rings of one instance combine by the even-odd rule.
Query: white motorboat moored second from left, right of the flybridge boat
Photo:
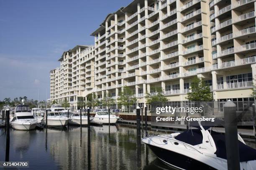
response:
[[[62,112],[48,112],[47,126],[66,126],[69,119]],[[44,116],[44,124],[46,124],[46,116]]]

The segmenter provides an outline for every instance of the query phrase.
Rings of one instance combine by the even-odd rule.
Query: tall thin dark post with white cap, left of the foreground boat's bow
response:
[[[137,169],[141,169],[141,108],[137,106]]]

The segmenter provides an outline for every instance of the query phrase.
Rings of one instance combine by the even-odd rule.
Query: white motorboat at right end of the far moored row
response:
[[[118,116],[114,115],[112,112],[110,112],[110,123],[114,124],[119,119]],[[95,116],[92,119],[92,123],[103,123],[108,124],[108,111],[99,111],[96,112]]]

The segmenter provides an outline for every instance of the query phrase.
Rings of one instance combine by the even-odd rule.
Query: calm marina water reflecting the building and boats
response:
[[[135,170],[137,167],[136,127],[91,126],[91,170]],[[0,160],[5,160],[5,135],[0,129]],[[3,134],[3,135],[2,135]],[[2,136],[1,136],[2,135]],[[246,143],[256,148],[254,141]],[[33,170],[88,170],[87,127],[69,126],[47,130],[10,129],[10,161],[29,161]],[[156,159],[141,143],[143,170],[173,170]]]

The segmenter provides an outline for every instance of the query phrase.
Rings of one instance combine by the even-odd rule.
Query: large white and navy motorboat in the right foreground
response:
[[[142,138],[164,163],[181,170],[228,170],[225,135],[201,122],[183,133]],[[210,128],[210,129],[209,129]],[[256,170],[256,150],[238,134],[241,170]]]

